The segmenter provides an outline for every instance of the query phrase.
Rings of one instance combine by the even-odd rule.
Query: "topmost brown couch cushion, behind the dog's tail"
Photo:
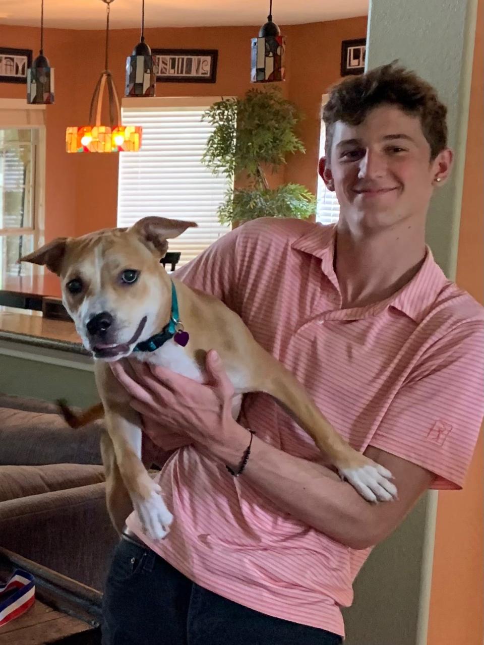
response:
[[[57,414],[0,408],[0,466],[101,464],[101,422],[73,430]]]

